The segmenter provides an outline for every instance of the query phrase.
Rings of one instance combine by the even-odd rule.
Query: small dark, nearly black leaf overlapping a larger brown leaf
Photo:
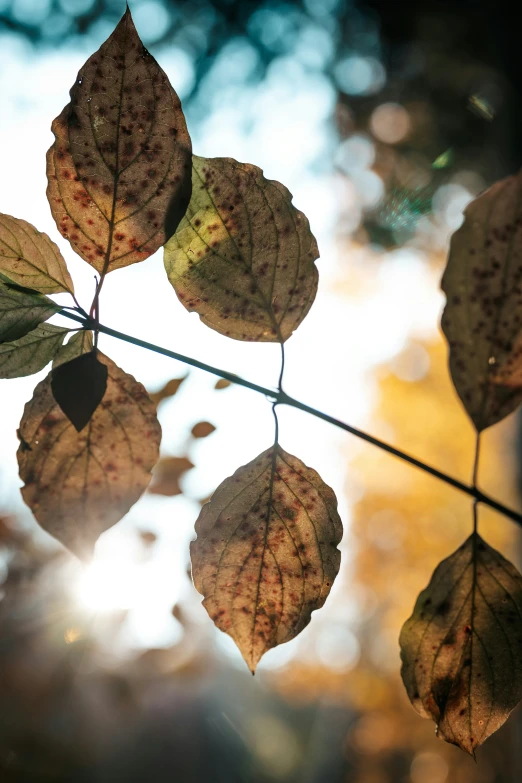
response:
[[[107,365],[96,349],[53,367],[53,397],[78,432],[87,426],[107,389]]]

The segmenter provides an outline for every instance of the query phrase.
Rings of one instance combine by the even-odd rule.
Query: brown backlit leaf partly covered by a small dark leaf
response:
[[[22,495],[37,521],[79,557],[115,525],[146,489],[161,428],[145,389],[101,353],[107,391],[81,432],[51,390],[38,384],[20,423]]]

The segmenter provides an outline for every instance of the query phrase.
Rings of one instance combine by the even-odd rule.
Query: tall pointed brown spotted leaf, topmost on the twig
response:
[[[62,235],[101,273],[148,258],[185,213],[191,144],[128,9],[80,69],[52,130],[47,197]]]

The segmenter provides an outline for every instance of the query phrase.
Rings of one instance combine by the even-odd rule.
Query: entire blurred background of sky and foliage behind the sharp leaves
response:
[[[78,69],[124,10],[0,0],[0,211],[58,242],[84,305],[93,270],[55,229],[45,152]],[[182,99],[194,152],[261,166],[318,239],[319,293],[287,344],[287,392],[469,481],[474,436],[447,372],[439,281],[463,209],[522,162],[520,45],[504,4],[133,0],[131,11]],[[101,318],[277,381],[278,347],[201,325],[161,253],[107,278]],[[283,447],[338,496],[343,559],[326,606],[252,678],[200,605],[188,545],[201,503],[270,445],[270,406],[166,358],[100,345],[156,395],[163,456],[87,567],[19,494],[16,428],[39,378],[1,382],[2,783],[519,783],[516,713],[475,765],[436,739],[399,677],[400,626],[470,533],[468,499],[282,410]],[[518,430],[510,417],[482,450],[481,487],[512,505]],[[511,523],[481,510],[481,531],[520,566]]]

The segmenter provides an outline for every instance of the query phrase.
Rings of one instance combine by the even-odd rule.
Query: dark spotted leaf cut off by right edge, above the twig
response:
[[[442,278],[450,371],[480,432],[522,400],[522,174],[473,201]]]

